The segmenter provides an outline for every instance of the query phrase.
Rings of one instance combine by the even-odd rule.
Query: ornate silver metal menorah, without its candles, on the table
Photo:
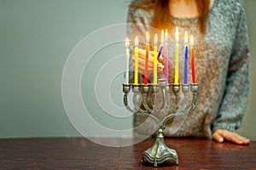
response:
[[[189,88],[190,92],[193,94],[193,99],[189,105]],[[172,102],[171,89],[174,94],[174,101]],[[182,89],[182,93],[180,93]],[[132,91],[132,105],[131,107],[128,102],[128,95]],[[156,94],[163,94],[164,104],[160,107],[155,105]],[[164,142],[163,131],[165,130],[165,125],[168,120],[175,116],[185,116],[190,111],[195,108],[197,102],[197,91],[198,84],[191,83],[189,84],[166,84],[166,79],[159,79],[159,84],[123,84],[124,92],[124,104],[128,111],[135,113],[136,116],[148,116],[154,119],[157,124],[156,128],[156,139],[151,148],[145,150],[142,155],[142,162],[154,163],[154,167],[157,167],[158,164],[161,164],[165,161],[171,161],[172,163],[178,164],[177,152],[176,150],[170,149],[166,146]],[[150,94],[149,94],[150,92]],[[147,98],[150,95],[151,104],[153,107],[148,105]],[[183,95],[183,102],[180,102],[180,97]],[[142,98],[142,102],[138,99]],[[171,104],[171,102],[173,104]],[[133,109],[131,109],[133,108]],[[162,120],[159,120],[155,113],[162,114],[163,112],[167,113]]]

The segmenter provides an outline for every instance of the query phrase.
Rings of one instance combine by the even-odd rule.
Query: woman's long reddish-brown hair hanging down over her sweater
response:
[[[169,8],[169,0],[135,0],[139,3],[135,5],[135,8],[154,8],[154,16],[151,21],[150,26],[153,26],[158,29],[162,29],[167,26],[172,26],[172,17],[169,17],[172,14]],[[196,0],[196,7],[198,11],[198,27],[201,34],[206,32],[207,19],[209,14],[210,0]],[[151,5],[150,5],[151,4]],[[154,5],[152,5],[154,4]],[[157,12],[156,12],[157,11]]]

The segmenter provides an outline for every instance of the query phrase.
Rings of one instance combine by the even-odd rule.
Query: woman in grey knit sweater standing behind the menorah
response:
[[[128,37],[139,36],[142,42],[145,42],[148,26],[159,30],[167,28],[174,39],[178,26],[180,44],[184,43],[181,38],[184,31],[195,39],[199,99],[195,110],[189,113],[177,132],[173,133],[171,127],[166,127],[165,135],[207,137],[219,143],[227,140],[235,144],[249,144],[249,139],[235,133],[241,127],[249,88],[250,53],[241,0],[135,0],[129,8],[128,22],[137,24],[128,27]],[[143,49],[139,50],[139,59],[139,72],[143,75]],[[150,54],[148,71],[151,73],[152,61]],[[159,70],[163,69],[163,65],[159,63]],[[172,65],[169,67],[169,75],[173,75],[174,68]],[[169,82],[173,82],[173,77],[169,77]],[[135,126],[142,122],[135,117]]]

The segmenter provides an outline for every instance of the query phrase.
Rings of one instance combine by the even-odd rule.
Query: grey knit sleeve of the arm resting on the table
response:
[[[241,127],[241,120],[247,106],[249,92],[249,41],[247,36],[247,22],[242,4],[235,16],[236,39],[230,57],[230,66],[224,88],[224,96],[218,110],[218,116],[212,125],[212,132],[216,129],[235,131]]]

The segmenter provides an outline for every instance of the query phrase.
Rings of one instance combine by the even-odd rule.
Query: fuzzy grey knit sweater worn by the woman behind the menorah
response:
[[[132,8],[134,3],[147,0],[133,1],[129,8],[128,23],[138,24],[128,26],[128,37],[139,37],[145,42],[145,31],[154,15],[154,4],[147,7]],[[244,9],[240,0],[215,0],[207,20],[207,31],[201,35],[198,18],[175,18],[173,16],[169,40],[169,82],[173,82],[175,55],[174,41],[175,26],[180,35],[180,66],[179,81],[183,82],[183,35],[188,31],[194,36],[195,76],[199,84],[199,98],[195,110],[188,116],[176,117],[165,130],[166,136],[207,137],[212,138],[212,132],[218,128],[235,131],[241,126],[244,115],[248,89],[249,43],[247,23]],[[141,25],[142,24],[142,25]],[[166,29],[166,28],[163,28]],[[156,31],[157,32],[157,31]],[[159,33],[159,32],[158,32]],[[154,37],[151,31],[151,37]],[[160,36],[160,34],[159,34]],[[159,38],[160,39],[160,38]],[[151,42],[154,42],[153,38]],[[189,82],[191,82],[189,67]],[[159,98],[160,99],[160,98]],[[160,118],[162,118],[160,116]],[[134,125],[141,124],[145,119],[135,116]],[[154,121],[136,129],[136,134],[154,133]]]

